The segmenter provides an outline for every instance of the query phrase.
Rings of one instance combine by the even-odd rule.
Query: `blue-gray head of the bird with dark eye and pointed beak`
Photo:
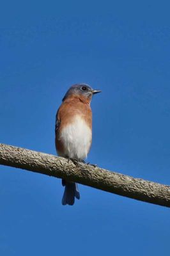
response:
[[[101,92],[100,90],[93,90],[88,84],[73,84],[70,89],[66,92],[63,101],[71,95],[82,95],[87,99],[91,100],[92,96],[96,93]]]

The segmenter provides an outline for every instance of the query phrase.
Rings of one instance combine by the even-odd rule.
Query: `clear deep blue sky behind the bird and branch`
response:
[[[88,161],[170,183],[168,1],[6,1],[0,10],[1,143],[56,154],[56,110],[73,83],[93,98]],[[169,209],[0,166],[0,253],[166,255]],[[69,254],[68,254],[69,253]]]

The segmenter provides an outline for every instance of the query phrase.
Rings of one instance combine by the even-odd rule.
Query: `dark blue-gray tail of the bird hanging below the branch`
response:
[[[65,192],[62,199],[63,205],[73,205],[75,197],[77,199],[80,199],[80,193],[77,186],[77,183],[75,182],[68,182],[66,180],[62,180],[63,186],[65,186]]]

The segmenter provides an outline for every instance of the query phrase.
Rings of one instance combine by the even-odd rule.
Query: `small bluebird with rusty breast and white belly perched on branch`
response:
[[[93,95],[100,92],[84,83],[73,84],[66,92],[56,113],[55,145],[58,156],[82,162],[88,156],[92,141],[90,103]],[[80,199],[77,184],[62,179],[62,185],[65,186],[62,204],[73,205],[75,198]]]

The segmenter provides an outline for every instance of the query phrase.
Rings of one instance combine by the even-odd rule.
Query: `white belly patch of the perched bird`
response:
[[[81,116],[75,116],[72,124],[67,125],[61,132],[60,140],[65,148],[65,156],[73,159],[87,157],[91,146],[91,129]]]

